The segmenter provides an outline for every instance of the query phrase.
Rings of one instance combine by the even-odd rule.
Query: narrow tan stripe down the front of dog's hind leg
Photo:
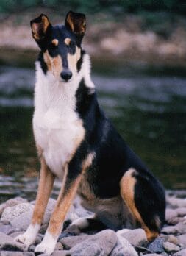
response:
[[[129,171],[126,171],[124,176],[121,179],[120,187],[121,187],[121,196],[124,199],[127,207],[129,207],[130,212],[135,217],[135,219],[141,224],[143,230],[146,232],[147,239],[149,241],[153,240],[157,237],[158,232],[149,230],[149,227],[146,226],[140,213],[138,212],[135,206],[135,177],[132,177],[132,174],[135,174],[137,171],[133,168],[130,168]]]

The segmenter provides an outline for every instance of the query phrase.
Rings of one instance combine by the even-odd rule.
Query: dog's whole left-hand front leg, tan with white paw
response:
[[[43,215],[46,210],[47,202],[49,201],[51,189],[54,184],[54,175],[46,166],[46,162],[43,158],[41,158],[40,164],[40,181],[31,224],[29,224],[29,227],[24,234],[18,235],[15,238],[15,241],[24,243],[26,247],[29,247],[30,244],[35,242],[37,233],[40,230],[40,224],[43,221]]]

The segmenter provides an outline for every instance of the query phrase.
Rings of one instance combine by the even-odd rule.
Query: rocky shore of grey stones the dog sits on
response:
[[[13,238],[28,227],[35,201],[16,197],[0,205],[0,255],[32,256],[35,246],[43,239],[49,218],[55,204],[49,199],[43,225],[37,235],[35,244],[26,249]],[[91,215],[80,205],[79,198],[69,210],[66,223],[79,217]],[[46,256],[46,254],[42,254]],[[57,242],[53,256],[185,256],[186,255],[186,199],[179,194],[167,193],[166,223],[158,238],[152,243],[146,239],[142,229],[136,230],[103,230],[101,232],[80,232],[75,226],[67,227]]]

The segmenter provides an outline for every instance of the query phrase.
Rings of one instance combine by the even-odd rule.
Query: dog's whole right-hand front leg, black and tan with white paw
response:
[[[69,166],[65,169],[65,175],[62,181],[62,188],[57,199],[57,205],[51,215],[46,235],[44,236],[43,241],[36,246],[35,252],[51,254],[54,251],[57,238],[62,230],[65,215],[71,206],[74,196],[76,195],[81,178],[82,174],[77,170],[71,170]]]

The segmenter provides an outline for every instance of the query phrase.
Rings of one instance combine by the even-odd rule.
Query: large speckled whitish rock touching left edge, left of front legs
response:
[[[22,215],[23,213],[30,212],[34,206],[29,203],[21,203],[12,207],[6,207],[2,213],[1,221],[12,221],[15,217]]]

